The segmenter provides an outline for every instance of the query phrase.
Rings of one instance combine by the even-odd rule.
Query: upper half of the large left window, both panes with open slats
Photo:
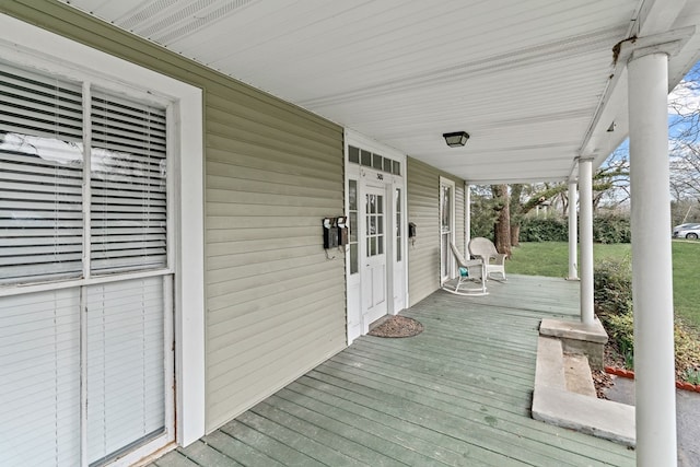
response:
[[[91,94],[0,63],[0,284],[167,266],[165,108]]]

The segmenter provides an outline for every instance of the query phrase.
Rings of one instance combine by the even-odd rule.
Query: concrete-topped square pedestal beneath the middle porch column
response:
[[[603,353],[608,341],[608,334],[603,324],[595,318],[593,325],[581,322],[564,322],[559,319],[542,319],[539,335],[556,337],[561,340],[564,352],[583,353],[594,370],[603,370]]]

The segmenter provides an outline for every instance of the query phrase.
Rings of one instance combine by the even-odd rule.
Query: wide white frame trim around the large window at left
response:
[[[168,229],[168,242],[174,262],[168,266],[175,273],[175,424],[176,442],[190,444],[205,434],[206,413],[202,91],[4,14],[0,14],[0,55],[15,65],[90,81],[125,94],[145,92],[154,101],[170,103],[168,132],[173,137],[168,143],[173,157],[168,161],[168,203],[173,206],[173,227]],[[149,275],[153,272],[142,272]],[[93,278],[90,283],[108,280]],[[85,283],[80,279],[18,285],[2,288],[0,295]],[[138,455],[143,454],[133,453],[135,457]]]

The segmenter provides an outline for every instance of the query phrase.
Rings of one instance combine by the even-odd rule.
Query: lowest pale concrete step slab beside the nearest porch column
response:
[[[533,418],[634,446],[634,407],[535,385]]]

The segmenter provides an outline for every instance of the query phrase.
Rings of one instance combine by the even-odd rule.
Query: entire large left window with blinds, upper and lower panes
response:
[[[0,61],[0,453],[12,465],[100,466],[172,433],[166,129],[164,107]],[[70,279],[84,280],[58,282]]]

